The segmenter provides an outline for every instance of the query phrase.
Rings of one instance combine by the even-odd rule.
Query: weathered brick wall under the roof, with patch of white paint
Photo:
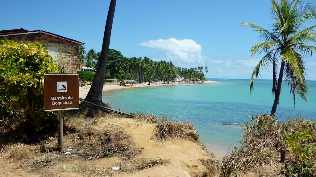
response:
[[[45,45],[48,53],[56,60],[58,65],[62,65],[68,73],[79,72],[79,44],[72,43],[65,39],[54,37],[44,33],[21,34],[12,36],[2,36],[0,40],[5,38],[13,39],[15,42],[27,43],[27,41],[38,41]]]

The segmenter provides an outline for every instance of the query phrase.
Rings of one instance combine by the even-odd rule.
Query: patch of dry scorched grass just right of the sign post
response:
[[[107,117],[110,118],[110,117]],[[114,155],[133,158],[138,150],[130,147],[132,144],[129,134],[117,127],[115,129],[97,129],[95,118],[87,119],[81,117],[71,117],[65,121],[68,134],[64,144],[71,147],[80,147],[85,157],[100,159]],[[99,122],[100,120],[98,120]]]

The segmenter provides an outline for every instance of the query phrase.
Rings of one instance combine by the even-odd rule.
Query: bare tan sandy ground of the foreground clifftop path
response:
[[[73,121],[72,119],[70,121]],[[16,176],[59,176],[59,177],[83,177],[83,176],[99,176],[93,174],[87,174],[85,172],[78,172],[78,168],[81,164],[88,165],[87,167],[102,170],[104,168],[110,168],[119,166],[124,168],[125,163],[137,164],[137,161],[143,159],[164,159],[168,162],[154,166],[152,168],[145,168],[139,171],[131,172],[124,169],[113,171],[111,176],[118,177],[159,177],[159,176],[181,176],[181,177],[193,177],[202,173],[206,168],[202,165],[200,159],[211,158],[210,154],[203,150],[202,147],[191,140],[174,139],[169,140],[163,144],[157,143],[150,139],[152,136],[153,125],[150,123],[144,123],[131,118],[124,117],[102,117],[97,125],[91,128],[96,130],[117,129],[129,134],[129,140],[131,141],[130,147],[141,150],[141,153],[137,154],[132,161],[126,161],[126,159],[120,156],[103,158],[100,160],[87,161],[86,159],[72,156],[64,156],[63,160],[53,163],[43,168],[32,170],[27,166],[21,165],[19,162],[12,162],[7,155],[1,156],[0,154],[0,176],[3,177],[16,177]],[[69,125],[70,126],[70,125]],[[69,142],[67,138],[71,136],[65,136],[64,142]],[[70,146],[65,144],[65,146]],[[21,145],[23,149],[24,146]],[[72,147],[76,149],[77,147]],[[216,154],[217,157],[222,157],[222,154]],[[68,157],[68,158],[67,158]],[[63,165],[69,165],[66,169],[63,169]],[[104,176],[104,175],[102,175]]]

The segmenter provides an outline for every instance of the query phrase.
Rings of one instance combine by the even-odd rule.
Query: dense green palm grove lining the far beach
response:
[[[98,68],[100,52],[90,49],[86,52],[85,47],[79,48],[80,65]],[[122,79],[134,79],[137,82],[164,81],[173,80],[176,76],[197,78],[205,80],[205,74],[208,72],[207,66],[198,66],[197,68],[175,67],[171,61],[153,61],[148,57],[127,58],[120,51],[109,49],[108,62],[106,66],[105,78],[113,78],[119,75]]]

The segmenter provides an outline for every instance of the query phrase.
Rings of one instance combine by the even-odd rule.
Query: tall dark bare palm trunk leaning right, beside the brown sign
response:
[[[88,95],[86,97],[86,100],[90,102],[95,102],[95,103],[102,102],[102,88],[103,88],[104,76],[105,76],[105,71],[106,71],[107,56],[109,54],[110,38],[111,38],[115,5],[116,5],[116,0],[111,0],[109,12],[106,18],[102,50],[101,50],[101,56],[99,60],[98,69],[95,74],[90,91],[88,92]]]

